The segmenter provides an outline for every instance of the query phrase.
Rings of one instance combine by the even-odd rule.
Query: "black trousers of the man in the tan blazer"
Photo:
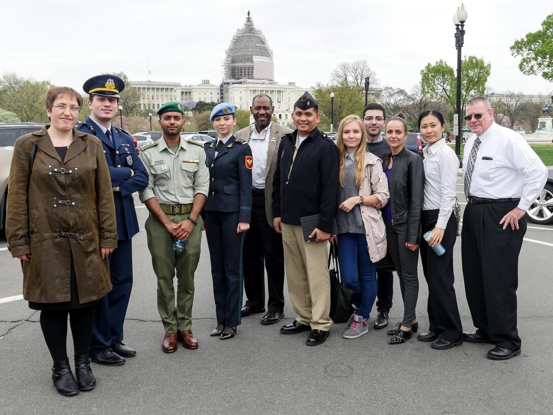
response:
[[[253,195],[252,221],[244,237],[244,290],[246,305],[254,309],[265,308],[265,268],[270,312],[284,311],[284,249],[282,235],[267,222],[265,194]]]

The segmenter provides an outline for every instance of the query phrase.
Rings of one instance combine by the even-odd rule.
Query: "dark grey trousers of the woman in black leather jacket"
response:
[[[399,277],[399,288],[403,298],[403,321],[401,325],[411,327],[415,319],[416,301],[419,297],[419,250],[411,251],[405,246],[407,242],[407,224],[392,225],[391,220],[384,220],[388,252]]]

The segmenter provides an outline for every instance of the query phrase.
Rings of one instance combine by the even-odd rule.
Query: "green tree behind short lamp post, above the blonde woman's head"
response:
[[[342,118],[355,114],[361,116],[365,105],[364,90],[358,86],[351,86],[346,81],[340,84],[323,85],[320,82],[311,88],[312,95],[319,104],[321,131],[330,131],[332,121],[331,92],[334,92],[334,131],[337,131],[338,124]]]

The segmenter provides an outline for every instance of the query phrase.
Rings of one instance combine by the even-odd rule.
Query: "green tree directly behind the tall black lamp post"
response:
[[[422,94],[432,101],[447,102],[455,112],[457,79],[453,68],[440,59],[434,65],[427,64],[420,74]],[[491,64],[476,56],[465,56],[461,62],[461,113],[468,100],[484,95],[490,74]]]

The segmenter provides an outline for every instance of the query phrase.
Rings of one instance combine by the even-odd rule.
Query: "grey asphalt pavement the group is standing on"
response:
[[[458,179],[458,198],[462,195]],[[139,223],[147,209],[135,198]],[[464,207],[464,205],[462,205]],[[342,338],[335,324],[320,346],[305,345],[308,333],[282,335],[261,325],[262,314],[242,319],[231,340],[211,338],[216,326],[210,263],[205,237],[196,272],[192,330],[197,350],[180,346],[161,351],[163,326],[156,309],[156,279],[146,234],[133,240],[134,287],[124,342],[137,349],[126,364],[92,364],[95,390],[63,397],[51,381],[51,359],[39,326],[39,313],[16,297],[22,293],[19,262],[0,239],[0,414],[551,414],[553,359],[550,333],[553,226],[529,224],[519,257],[518,329],[522,354],[508,361],[487,359],[487,344],[464,343],[434,350],[415,336],[388,345],[386,330],[358,339]],[[461,243],[455,245],[455,288],[463,329],[473,330],[461,271]],[[395,276],[395,274],[394,274]],[[427,287],[419,264],[420,331],[428,328]],[[397,277],[390,326],[403,304]],[[286,290],[287,288],[285,288]],[[15,297],[15,299],[11,298]],[[285,318],[296,315],[288,293]],[[68,351],[72,354],[71,336]]]

